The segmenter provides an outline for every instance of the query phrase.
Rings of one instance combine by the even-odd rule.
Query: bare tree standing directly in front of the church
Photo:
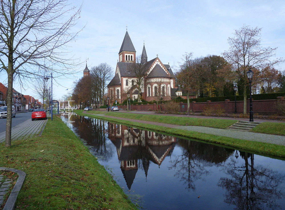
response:
[[[131,64],[128,68],[128,71],[130,71],[131,75],[136,78],[135,85],[137,86],[139,91],[138,102],[141,102],[141,89],[144,87],[144,77],[146,76],[148,71],[146,62],[141,59],[141,56],[137,56],[136,63]]]

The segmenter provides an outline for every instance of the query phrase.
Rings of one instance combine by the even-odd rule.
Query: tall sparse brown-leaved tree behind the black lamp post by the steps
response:
[[[243,86],[244,114],[247,113],[246,89],[249,83],[246,72],[251,69],[255,77],[266,68],[272,68],[274,64],[283,61],[272,59],[277,48],[264,48],[260,45],[260,32],[261,28],[243,25],[235,30],[233,38],[228,38],[230,49],[223,53],[224,58],[232,65],[232,71],[240,81],[239,85]]]

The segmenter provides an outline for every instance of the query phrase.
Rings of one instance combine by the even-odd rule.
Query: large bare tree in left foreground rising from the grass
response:
[[[0,72],[8,78],[6,147],[11,146],[13,80],[42,79],[43,71],[70,74],[77,63],[66,58],[66,47],[77,34],[71,28],[80,9],[68,0],[0,1]]]

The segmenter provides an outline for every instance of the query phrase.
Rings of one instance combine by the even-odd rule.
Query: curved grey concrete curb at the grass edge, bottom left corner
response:
[[[18,174],[17,182],[14,185],[13,190],[11,191],[9,198],[3,208],[3,210],[13,210],[17,201],[18,194],[26,178],[26,173],[14,168],[2,168],[2,167],[0,167],[0,171],[11,171]]]

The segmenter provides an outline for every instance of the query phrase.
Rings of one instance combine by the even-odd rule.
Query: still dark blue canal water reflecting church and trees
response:
[[[285,161],[76,115],[62,120],[140,209],[285,209]]]

